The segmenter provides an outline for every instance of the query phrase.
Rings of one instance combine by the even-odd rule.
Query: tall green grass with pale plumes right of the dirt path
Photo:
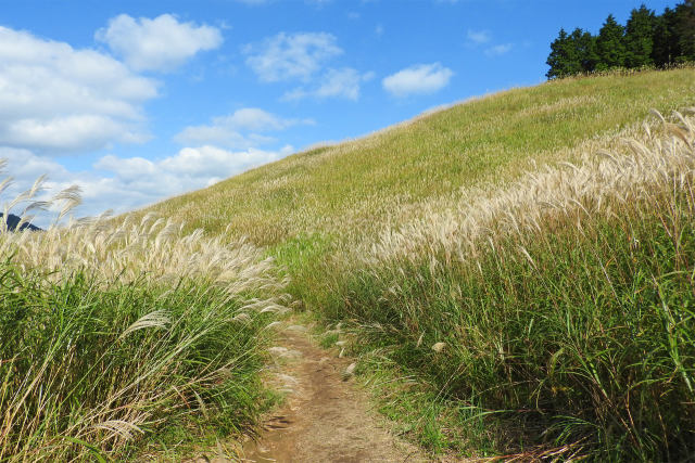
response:
[[[324,313],[488,416],[498,451],[692,459],[694,139],[675,114],[389,229],[332,263]]]

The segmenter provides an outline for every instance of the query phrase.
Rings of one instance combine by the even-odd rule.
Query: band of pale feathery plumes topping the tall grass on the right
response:
[[[685,111],[695,114],[695,107]],[[584,143],[585,154],[577,163],[536,168],[510,188],[464,190],[455,201],[425,204],[416,220],[363,243],[353,259],[374,265],[443,256],[440,263],[450,266],[475,260],[485,252],[481,246],[494,248],[495,241],[510,234],[540,232],[555,216],[576,217],[581,229],[584,215],[621,215],[659,189],[682,190],[693,175],[694,119],[674,112],[678,124],[667,123],[656,111],[653,119],[623,131],[611,150],[603,149],[602,140]]]

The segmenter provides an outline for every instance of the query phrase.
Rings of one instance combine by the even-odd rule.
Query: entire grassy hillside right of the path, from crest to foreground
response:
[[[432,450],[684,460],[694,94],[693,68],[515,89],[148,210],[265,246]]]

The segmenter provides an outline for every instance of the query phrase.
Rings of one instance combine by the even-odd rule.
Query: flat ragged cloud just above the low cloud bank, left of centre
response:
[[[275,141],[258,132],[313,124],[315,123],[312,119],[285,119],[256,107],[244,107],[227,116],[214,117],[211,125],[187,127],[175,137],[175,140],[184,144],[216,144],[249,149]]]

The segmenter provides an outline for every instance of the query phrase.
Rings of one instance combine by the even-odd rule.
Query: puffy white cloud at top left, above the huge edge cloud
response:
[[[170,14],[154,20],[121,14],[94,37],[137,70],[172,70],[199,51],[216,49],[223,42],[216,27],[179,23]]]

